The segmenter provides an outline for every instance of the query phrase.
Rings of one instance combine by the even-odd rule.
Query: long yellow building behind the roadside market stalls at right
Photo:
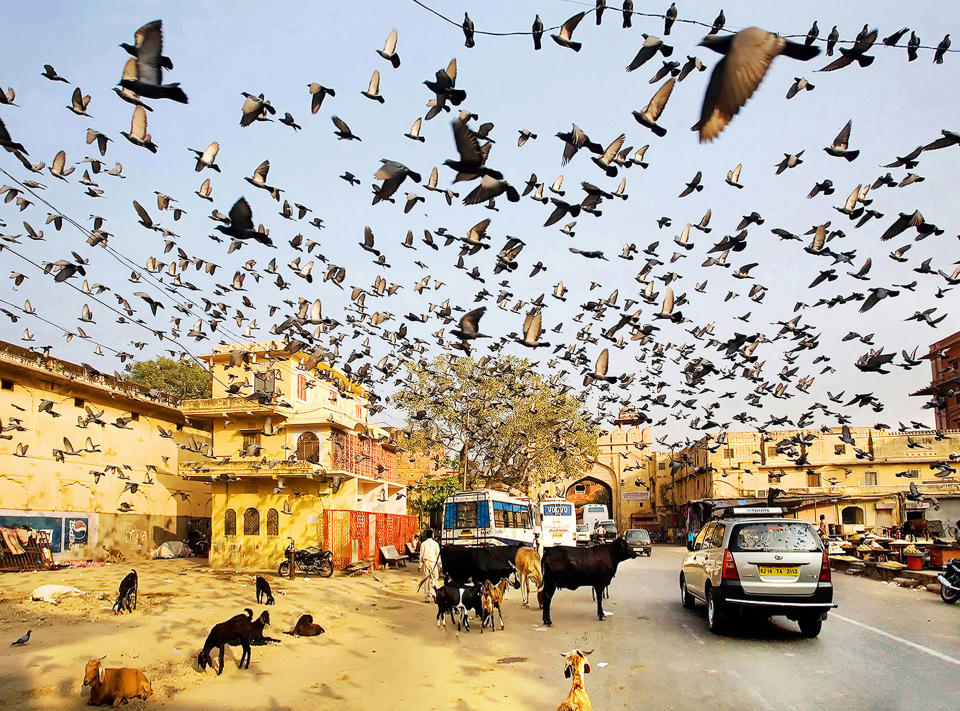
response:
[[[852,443],[842,441],[840,428],[729,432],[721,441],[710,436],[683,450],[658,453],[649,476],[657,504],[680,512],[680,525],[692,502],[766,499],[770,488],[779,489],[778,502],[797,507],[798,516],[817,521],[823,514],[845,533],[899,526],[924,511],[934,518],[930,497],[940,505],[939,499],[960,495],[956,473],[931,468],[950,464],[951,453],[960,451],[960,431],[854,427],[850,436]],[[911,483],[923,500],[906,499]],[[686,518],[698,525],[705,508],[693,510]]]

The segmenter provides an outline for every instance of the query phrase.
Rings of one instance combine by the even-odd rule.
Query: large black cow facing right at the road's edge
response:
[[[613,543],[577,548],[551,546],[543,549],[543,624],[552,625],[550,601],[558,588],[576,590],[583,585],[597,596],[597,619],[603,620],[603,591],[617,574],[617,565],[637,554],[622,536]]]

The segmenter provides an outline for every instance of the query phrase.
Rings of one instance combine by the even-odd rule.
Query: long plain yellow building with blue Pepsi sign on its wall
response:
[[[209,443],[175,400],[0,341],[0,526],[45,530],[56,557],[128,557],[209,532],[210,490],[178,475]]]

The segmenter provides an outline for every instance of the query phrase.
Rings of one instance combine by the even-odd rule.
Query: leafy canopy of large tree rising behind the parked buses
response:
[[[437,356],[408,362],[391,396],[409,425],[401,446],[439,444],[466,488],[529,492],[582,472],[597,454],[597,430],[581,400],[523,358]]]

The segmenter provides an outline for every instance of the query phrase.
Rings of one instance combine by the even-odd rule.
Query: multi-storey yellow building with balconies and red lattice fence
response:
[[[182,407],[208,423],[212,456],[180,471],[212,485],[212,566],[275,569],[292,538],[333,550],[342,567],[412,539],[406,482],[362,387],[278,341],[203,358],[213,397]]]

